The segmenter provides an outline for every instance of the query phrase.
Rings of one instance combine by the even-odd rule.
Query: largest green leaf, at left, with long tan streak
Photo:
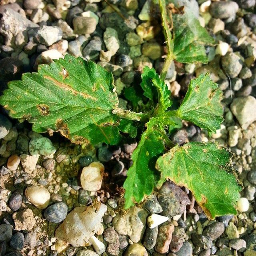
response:
[[[116,144],[120,139],[118,106],[110,72],[93,62],[66,55],[38,73],[12,81],[0,104],[10,116],[33,123],[33,130],[59,131],[74,143]]]

